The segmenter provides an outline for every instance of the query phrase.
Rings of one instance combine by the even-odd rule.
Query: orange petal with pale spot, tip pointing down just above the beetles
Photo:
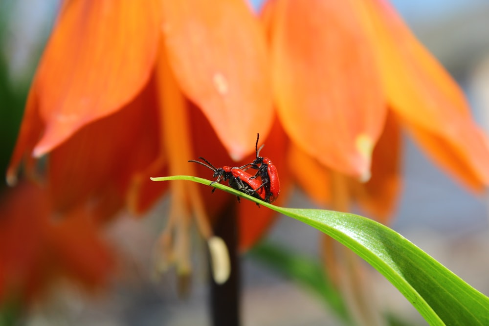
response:
[[[169,62],[234,160],[273,118],[265,35],[243,0],[164,2]]]

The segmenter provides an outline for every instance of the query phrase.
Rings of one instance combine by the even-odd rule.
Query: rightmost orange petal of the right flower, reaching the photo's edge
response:
[[[460,87],[387,2],[361,2],[373,24],[372,39],[392,108],[440,165],[472,188],[488,185],[487,138],[472,121]]]

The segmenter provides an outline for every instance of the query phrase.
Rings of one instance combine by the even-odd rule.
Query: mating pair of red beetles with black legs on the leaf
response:
[[[272,161],[268,157],[258,156],[264,146],[262,145],[260,149],[258,149],[259,138],[260,134],[257,134],[255,144],[255,160],[243,166],[234,168],[224,166],[222,168],[216,168],[203,157],[199,158],[205,163],[196,160],[190,160],[189,162],[199,163],[214,171],[213,177],[217,177],[217,179],[211,184],[221,182],[221,180],[229,180],[230,187],[247,195],[262,199],[268,203],[272,203],[280,194],[280,181],[278,179],[277,168]],[[246,172],[248,169],[257,170],[257,172],[255,175],[251,175]],[[258,179],[258,177],[260,177],[260,179]],[[215,188],[212,190],[212,192],[214,192],[214,190]]]

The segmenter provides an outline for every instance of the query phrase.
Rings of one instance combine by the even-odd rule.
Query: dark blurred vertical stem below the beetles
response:
[[[240,325],[241,271],[236,206],[236,202],[230,201],[214,224],[214,234],[224,240],[229,251],[231,274],[226,283],[217,284],[209,273],[213,326]]]

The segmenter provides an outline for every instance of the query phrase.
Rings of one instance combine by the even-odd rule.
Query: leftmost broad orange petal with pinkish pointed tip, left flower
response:
[[[46,45],[33,87],[50,151],[131,101],[148,81],[159,38],[158,1],[71,0]]]

